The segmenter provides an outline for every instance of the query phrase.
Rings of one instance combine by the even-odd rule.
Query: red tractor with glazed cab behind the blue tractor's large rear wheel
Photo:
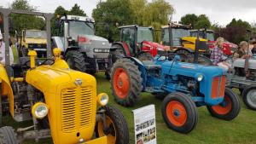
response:
[[[154,28],[143,26],[120,26],[120,41],[114,42],[110,53],[112,62],[121,57],[137,57],[140,60],[152,60],[160,51],[166,48],[154,43]]]

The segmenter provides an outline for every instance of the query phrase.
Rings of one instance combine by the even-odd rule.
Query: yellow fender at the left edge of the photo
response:
[[[11,87],[8,74],[2,64],[0,64],[0,83],[2,85],[1,87],[1,95],[2,96],[8,96],[9,99],[9,112],[11,113],[12,117],[14,117],[15,113],[15,96],[13,89]]]

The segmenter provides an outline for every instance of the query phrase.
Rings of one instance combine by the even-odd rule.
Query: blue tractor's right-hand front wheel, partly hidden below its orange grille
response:
[[[224,93],[224,101],[217,106],[207,106],[212,117],[232,120],[239,114],[241,105],[238,96],[232,89],[226,88]]]

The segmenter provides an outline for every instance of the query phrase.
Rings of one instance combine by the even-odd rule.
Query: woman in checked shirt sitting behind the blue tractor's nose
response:
[[[211,60],[214,66],[220,66],[226,71],[230,70],[230,64],[224,61],[224,37],[218,37],[215,47],[212,49]]]

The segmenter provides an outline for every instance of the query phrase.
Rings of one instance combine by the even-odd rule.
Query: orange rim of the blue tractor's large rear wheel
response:
[[[117,68],[113,74],[113,89],[120,99],[126,98],[130,89],[130,81],[123,68]]]

